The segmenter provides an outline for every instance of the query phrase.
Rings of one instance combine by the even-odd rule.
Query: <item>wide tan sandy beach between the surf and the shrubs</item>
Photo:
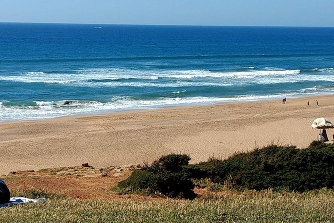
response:
[[[83,162],[136,165],[169,153],[199,162],[272,142],[306,147],[319,134],[312,121],[323,116],[334,120],[334,96],[2,123],[0,174]]]

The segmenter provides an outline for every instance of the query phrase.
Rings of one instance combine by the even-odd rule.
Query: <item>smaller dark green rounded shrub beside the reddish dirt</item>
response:
[[[170,154],[145,165],[118,184],[135,192],[145,190],[149,193],[161,193],[169,197],[194,198],[194,184],[184,165],[189,163],[188,155]]]

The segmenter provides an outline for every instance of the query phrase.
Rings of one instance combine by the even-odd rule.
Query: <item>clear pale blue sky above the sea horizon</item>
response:
[[[334,0],[0,0],[1,22],[334,26]]]

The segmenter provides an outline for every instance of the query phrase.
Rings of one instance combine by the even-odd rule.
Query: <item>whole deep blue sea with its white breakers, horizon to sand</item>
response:
[[[334,27],[0,23],[0,121],[334,94]]]

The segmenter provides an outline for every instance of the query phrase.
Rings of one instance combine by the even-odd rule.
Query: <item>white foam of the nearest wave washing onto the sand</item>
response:
[[[0,106],[0,121],[8,120],[32,120],[45,119],[74,114],[96,114],[104,112],[133,110],[133,109],[156,109],[168,106],[179,105],[204,105],[223,102],[236,101],[255,101],[281,98],[283,96],[293,96],[295,94],[277,94],[277,95],[245,95],[239,97],[162,97],[157,100],[135,100],[129,97],[114,97],[107,103],[98,101],[71,101],[72,104],[67,104],[66,101],[39,101],[38,106],[15,107],[15,106]],[[36,101],[37,103],[37,101]],[[49,105],[52,104],[52,105]],[[62,105],[58,105],[62,104]]]

